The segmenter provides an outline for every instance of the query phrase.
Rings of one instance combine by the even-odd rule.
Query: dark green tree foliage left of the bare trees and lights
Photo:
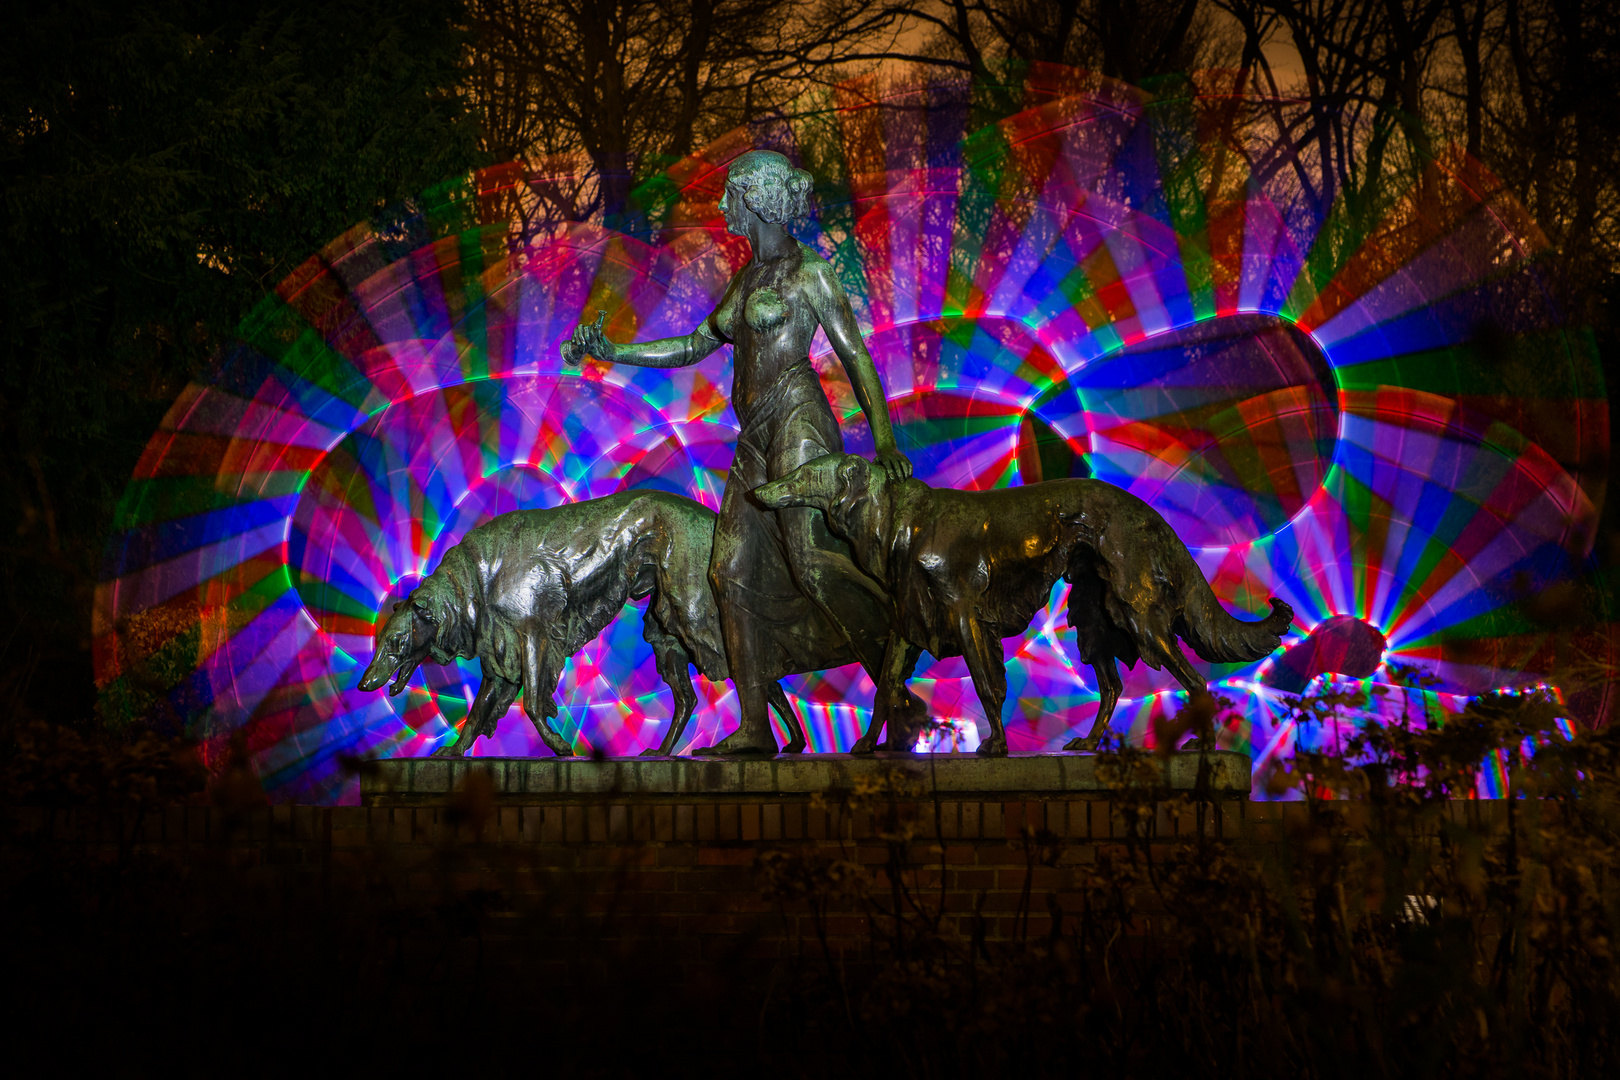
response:
[[[91,717],[141,447],[241,316],[475,162],[454,0],[24,6],[0,37],[0,712]]]

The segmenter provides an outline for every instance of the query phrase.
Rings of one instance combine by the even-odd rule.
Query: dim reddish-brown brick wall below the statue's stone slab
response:
[[[382,905],[444,907],[483,897],[494,912],[549,905],[586,936],[656,942],[677,963],[726,957],[820,955],[804,899],[773,899],[760,857],[786,852],[789,868],[860,868],[886,910],[901,886],[964,938],[1047,934],[1053,912],[1074,913],[1076,873],[1098,850],[1121,847],[1126,814],[1155,845],[1207,836],[1273,839],[1298,806],[1225,800],[1116,803],[894,800],[570,801],[308,808],[227,813],[175,806],[144,816],[86,810],[10,810],[6,847],[79,852],[92,861],[160,860],[186,874],[301,881],[319,891],[368,891]],[[906,837],[899,842],[897,837]],[[285,881],[284,881],[285,879]],[[368,900],[373,902],[373,900]],[[870,947],[873,907],[847,894],[820,926],[834,952]],[[880,915],[881,920],[881,915]]]

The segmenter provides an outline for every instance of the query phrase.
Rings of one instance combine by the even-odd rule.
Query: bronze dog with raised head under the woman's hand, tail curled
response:
[[[1095,750],[1123,688],[1116,661],[1168,667],[1187,693],[1207,693],[1181,654],[1234,664],[1275,649],[1294,612],[1272,599],[1260,622],[1233,619],[1186,544],[1131,492],[1095,479],[1001,491],[951,491],[828,453],[755,489],[766,507],[815,507],[855,560],[888,586],[899,633],[936,657],[962,656],[991,735],[978,753],[1004,755],[1001,638],[1021,633],[1066,578],[1069,625],[1097,672],[1097,721],[1064,750]],[[852,748],[872,751],[878,719]]]

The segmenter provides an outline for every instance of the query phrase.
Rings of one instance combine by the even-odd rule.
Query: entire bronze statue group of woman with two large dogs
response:
[[[1256,661],[1280,643],[1293,610],[1243,622],[1221,609],[1186,546],[1140,499],[1100,481],[1068,479],[993,492],[935,489],[912,479],[894,444],[883,387],[831,266],[784,225],[810,209],[810,175],[771,151],[732,162],[721,212],[752,257],[719,306],[685,337],[616,345],[595,324],[564,343],[585,356],[643,368],[695,364],[734,347],[732,405],[742,423],[716,517],[659,492],[622,492],[554,510],[520,510],[457,544],[395,606],[361,688],[394,677],[397,693],[428,656],[476,656],[484,669],[458,738],[465,753],[523,691],[539,737],[551,729],[564,661],[595,638],[627,597],[654,599],[645,635],[676,698],[656,751],[679,743],[697,695],[685,664],[731,675],[739,729],[695,753],[776,753],[768,708],[804,750],[804,730],[778,685],[782,675],[859,661],[876,685],[872,722],[854,751],[909,750],[927,712],[906,690],[922,649],[964,656],[991,735],[1004,755],[1006,669],[1000,638],[1021,633],[1061,576],[1069,623],[1098,683],[1094,750],[1123,683],[1118,661],[1168,667],[1189,693],[1207,693],[1178,635],[1205,661]],[[849,372],[876,463],[842,453],[838,421],[810,366],[821,329]],[[705,573],[706,567],[706,573]],[[679,675],[679,678],[677,678]]]

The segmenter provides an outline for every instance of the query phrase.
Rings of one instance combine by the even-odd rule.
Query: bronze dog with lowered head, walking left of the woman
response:
[[[643,636],[676,699],[664,742],[676,751],[698,698],[687,664],[727,678],[719,612],[708,583],[714,512],[682,495],[625,491],[551,510],[515,510],[480,525],[394,606],[360,680],[397,695],[429,656],[439,664],[476,657],[483,682],[457,738],[434,756],[465,755],[523,691],[523,711],[559,758],[573,748],[551,727],[564,662],[612,622],[627,599],[651,596]],[[805,732],[774,682],[763,688],[792,740]]]

